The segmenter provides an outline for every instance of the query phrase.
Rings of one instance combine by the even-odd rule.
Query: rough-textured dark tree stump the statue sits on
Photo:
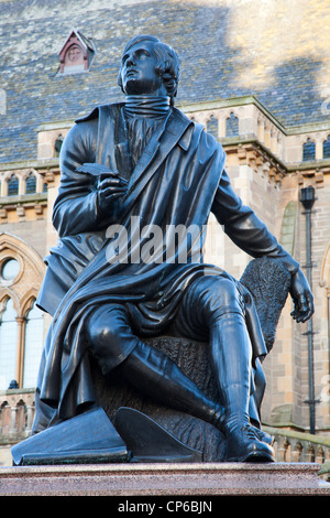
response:
[[[253,259],[248,265],[241,282],[254,298],[265,344],[270,352],[289,291],[290,274],[279,261],[270,258]],[[145,342],[166,353],[206,395],[218,398],[207,343],[172,335],[148,338]],[[223,460],[224,436],[215,427],[139,393],[127,381],[120,379],[116,371],[111,373],[111,377],[106,378],[95,363],[91,365],[98,401],[112,422],[120,407],[136,409],[184,444],[200,451],[205,462]]]

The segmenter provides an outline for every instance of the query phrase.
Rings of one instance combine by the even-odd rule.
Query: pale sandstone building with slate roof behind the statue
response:
[[[34,301],[43,257],[57,239],[52,206],[61,144],[76,118],[96,105],[122,100],[117,85],[121,52],[141,33],[177,50],[183,72],[176,106],[221,141],[242,199],[302,268],[311,267],[312,330],[292,321],[288,300],[265,360],[263,421],[308,433],[315,408],[316,435],[329,438],[329,2],[1,0],[0,13],[3,449],[29,434],[33,418],[33,382],[50,324]],[[308,186],[316,195],[310,259],[300,203]],[[238,278],[251,260],[212,216],[206,251]]]

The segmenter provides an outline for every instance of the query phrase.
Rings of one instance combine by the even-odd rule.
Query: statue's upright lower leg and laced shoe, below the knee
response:
[[[272,462],[274,451],[261,441],[249,417],[252,348],[244,316],[227,313],[211,326],[212,368],[221,404],[226,409],[222,431],[227,438],[226,461]]]

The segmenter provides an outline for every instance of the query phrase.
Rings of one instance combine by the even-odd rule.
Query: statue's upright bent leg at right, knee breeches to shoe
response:
[[[226,409],[227,460],[271,461],[273,450],[250,424],[252,346],[244,301],[235,284],[221,277],[202,277],[186,293],[177,325],[184,334],[208,330],[212,371]]]

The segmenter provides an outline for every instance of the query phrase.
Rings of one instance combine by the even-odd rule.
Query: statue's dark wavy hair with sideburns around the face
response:
[[[127,43],[122,55],[124,55],[133,45],[142,41],[150,41],[154,43],[153,52],[157,58],[156,71],[163,77],[167,95],[170,98],[175,97],[177,94],[177,87],[180,76],[180,60],[177,53],[169,45],[161,42],[161,40],[155,36],[141,34],[139,36],[132,37]],[[118,84],[122,89],[121,71],[118,76]]]

